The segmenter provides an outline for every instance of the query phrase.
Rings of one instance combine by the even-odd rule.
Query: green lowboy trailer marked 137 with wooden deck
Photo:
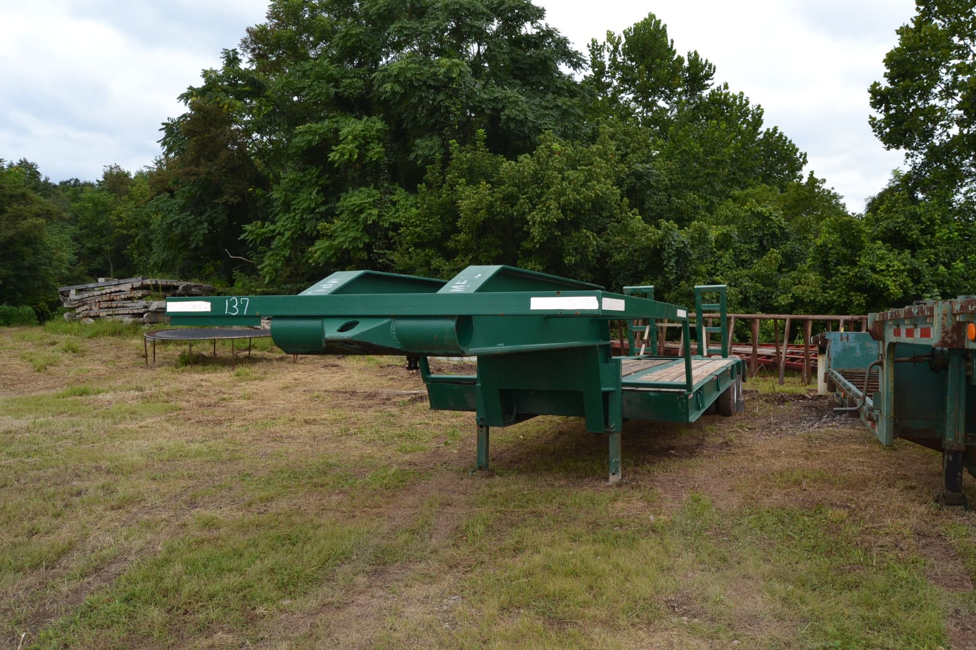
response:
[[[488,468],[492,427],[583,417],[588,431],[608,436],[616,482],[625,420],[694,422],[713,404],[724,415],[742,408],[746,365],[728,354],[725,287],[696,287],[693,315],[638,294],[653,296],[653,287],[618,294],[509,266],[469,266],[447,282],[343,271],[298,295],[168,298],[166,312],[173,325],[270,319],[272,340],[288,354],[420,357],[430,407],[476,414],[476,469]],[[716,301],[705,302],[709,296]],[[721,327],[703,321],[714,310]],[[641,354],[646,340],[631,345],[630,357],[612,355],[611,322],[626,321],[647,339],[662,320],[681,327],[680,357]],[[716,348],[712,334],[720,334]],[[477,372],[433,374],[427,357],[476,357]]]

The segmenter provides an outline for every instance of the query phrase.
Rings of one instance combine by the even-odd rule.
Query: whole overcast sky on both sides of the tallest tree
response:
[[[578,49],[654,12],[678,52],[697,50],[762,105],[850,210],[902,163],[868,126],[868,87],[884,72],[913,0],[537,0]],[[220,64],[266,0],[0,0],[0,158],[53,180],[137,170],[159,153],[176,97]]]

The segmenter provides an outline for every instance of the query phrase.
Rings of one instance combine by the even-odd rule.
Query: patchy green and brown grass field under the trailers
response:
[[[611,487],[572,418],[470,475],[472,415],[402,359],[146,367],[138,328],[0,328],[0,647],[976,648],[939,456],[748,387],[629,423]]]

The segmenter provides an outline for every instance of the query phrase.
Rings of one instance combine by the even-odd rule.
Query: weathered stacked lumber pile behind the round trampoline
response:
[[[95,319],[115,319],[136,323],[164,323],[166,297],[173,295],[210,295],[214,287],[152,278],[114,280],[99,278],[99,282],[73,287],[58,287],[61,305],[74,312],[66,312],[64,320],[92,323]]]

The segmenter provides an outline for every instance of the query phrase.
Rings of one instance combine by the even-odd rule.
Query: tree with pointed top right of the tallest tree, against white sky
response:
[[[627,158],[626,196],[649,223],[686,226],[735,191],[800,178],[805,154],[764,126],[761,107],[714,86],[714,72],[697,52],[678,55],[653,14],[590,43],[588,114],[611,127]]]

